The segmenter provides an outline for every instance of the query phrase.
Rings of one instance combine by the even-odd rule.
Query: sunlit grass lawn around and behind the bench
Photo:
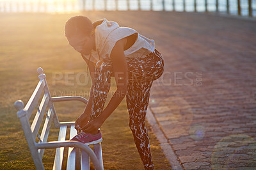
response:
[[[74,15],[79,13],[0,13],[0,169],[35,169],[13,104],[19,99],[28,102],[38,83],[36,69],[39,66],[45,70],[52,97],[88,97],[91,83],[84,73],[86,64],[68,45],[63,31],[65,21]],[[115,86],[111,87],[113,90]],[[111,93],[108,101],[110,97]],[[84,109],[84,105],[77,102],[54,105],[60,121],[75,121]],[[143,169],[128,118],[124,99],[100,128],[105,169]],[[147,129],[154,166],[170,169],[148,123]],[[57,139],[58,131],[53,129],[49,141]],[[45,151],[45,169],[52,168],[54,154],[55,150]]]

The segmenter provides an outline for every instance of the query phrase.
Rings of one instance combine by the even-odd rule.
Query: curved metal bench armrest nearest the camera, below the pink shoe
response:
[[[89,157],[92,159],[95,169],[103,170],[93,150],[83,143],[79,143],[77,141],[54,141],[49,143],[36,143],[37,149],[51,149],[60,147],[80,148],[81,150],[86,151],[86,153],[88,153]]]

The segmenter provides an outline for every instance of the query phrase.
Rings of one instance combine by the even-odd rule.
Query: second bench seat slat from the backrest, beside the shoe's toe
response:
[[[70,137],[72,139],[77,134],[77,130],[75,129],[75,125],[70,127]],[[68,163],[67,169],[76,169],[76,148],[68,148]]]

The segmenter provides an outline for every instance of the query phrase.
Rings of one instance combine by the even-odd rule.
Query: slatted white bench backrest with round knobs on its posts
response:
[[[60,122],[58,120],[54,105],[52,103],[52,98],[49,88],[47,86],[44,70],[42,68],[38,68],[37,72],[39,73],[38,77],[40,81],[38,82],[32,96],[29,98],[28,103],[24,107],[23,102],[21,100],[18,100],[15,102],[15,108],[18,110],[17,116],[20,119],[20,123],[22,125],[26,140],[28,142],[31,156],[35,162],[36,169],[44,169],[44,165],[42,163],[44,150],[36,149],[36,137],[38,137],[39,143],[46,143],[52,121],[54,122],[54,126],[56,128],[60,127]],[[38,100],[40,99],[41,95],[44,96],[42,97],[40,105],[38,105]],[[30,125],[29,118],[34,111],[36,105],[38,105],[37,112],[35,114],[33,122]],[[48,111],[47,108],[49,108]],[[44,126],[42,128],[41,134],[39,135],[38,131],[40,129],[42,121],[44,120],[45,113],[46,116]]]

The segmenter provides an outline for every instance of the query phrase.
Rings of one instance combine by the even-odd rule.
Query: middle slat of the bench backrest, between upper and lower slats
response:
[[[31,125],[31,131],[32,131],[32,135],[33,135],[33,138],[35,139],[36,138],[36,134],[38,133],[38,130],[40,128],[40,125],[42,123],[42,119],[44,117],[44,113],[45,113],[45,110],[46,110],[46,107],[48,105],[48,102],[49,102],[49,95],[46,93],[42,99],[42,102],[39,106],[39,110],[40,111],[37,111],[36,112],[36,116],[33,120],[33,123]]]

